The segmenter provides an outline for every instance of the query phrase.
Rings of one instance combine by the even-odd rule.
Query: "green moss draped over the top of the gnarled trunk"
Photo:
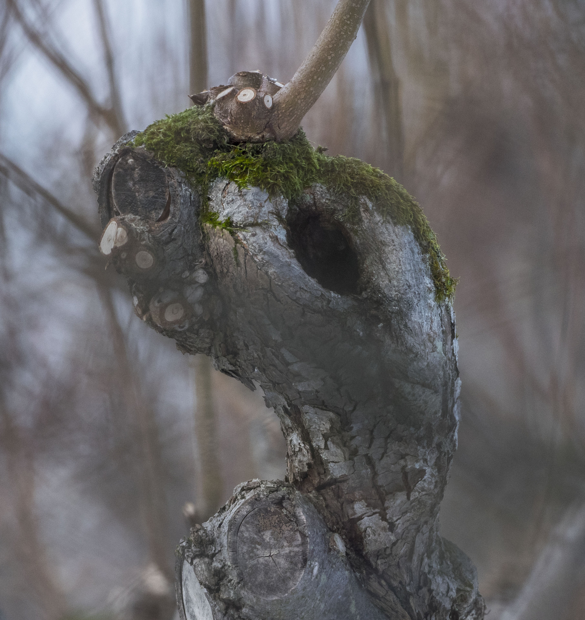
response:
[[[182,170],[200,188],[203,197],[202,221],[234,234],[228,218],[220,220],[207,210],[207,187],[218,177],[226,177],[238,187],[260,187],[271,196],[288,200],[300,198],[306,187],[325,185],[346,203],[342,219],[348,224],[359,220],[359,198],[367,197],[384,218],[409,226],[423,254],[429,257],[437,301],[451,299],[457,280],[450,277],[437,237],[421,207],[408,192],[382,170],[359,159],[326,149],[313,149],[303,130],[282,143],[230,144],[228,134],[210,106],[194,106],[167,116],[139,133],[130,146],[144,146],[167,166]]]

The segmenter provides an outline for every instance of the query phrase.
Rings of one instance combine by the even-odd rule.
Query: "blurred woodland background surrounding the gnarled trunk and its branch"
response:
[[[104,270],[91,175],[236,71],[287,82],[334,5],[0,3],[1,620],[171,620],[189,522],[284,476],[259,391]],[[440,523],[489,619],[585,617],[585,1],[372,0],[303,127],[401,182],[460,278]]]

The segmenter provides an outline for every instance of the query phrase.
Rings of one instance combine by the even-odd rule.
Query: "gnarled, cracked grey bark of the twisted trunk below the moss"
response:
[[[181,542],[182,618],[480,619],[475,568],[439,534],[457,446],[455,317],[411,229],[326,188],[297,203],[218,179],[201,200],[124,136],[96,169],[102,252],[136,314],[254,389],[287,440]],[[119,168],[118,168],[119,167]]]

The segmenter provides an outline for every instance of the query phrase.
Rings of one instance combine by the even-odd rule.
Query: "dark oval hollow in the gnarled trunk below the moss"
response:
[[[311,278],[341,295],[359,292],[357,255],[341,224],[299,213],[288,225],[288,242]]]

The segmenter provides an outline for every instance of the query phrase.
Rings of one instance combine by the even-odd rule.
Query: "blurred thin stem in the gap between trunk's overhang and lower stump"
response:
[[[197,518],[203,521],[220,507],[223,495],[220,462],[217,457],[219,447],[213,402],[212,365],[205,355],[195,358],[195,437],[199,485],[197,489]]]

